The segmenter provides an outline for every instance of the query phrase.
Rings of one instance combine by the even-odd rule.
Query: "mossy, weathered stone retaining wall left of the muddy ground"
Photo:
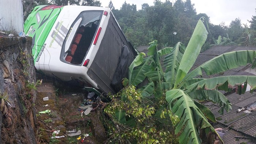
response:
[[[0,143],[35,144],[31,37],[0,37]],[[8,97],[6,97],[8,96]],[[4,102],[4,104],[3,104]],[[4,114],[4,111],[7,113]]]

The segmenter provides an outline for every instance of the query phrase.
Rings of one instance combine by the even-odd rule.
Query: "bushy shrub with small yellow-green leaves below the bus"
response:
[[[166,109],[164,99],[153,103],[132,85],[110,98],[112,102],[104,110],[112,120],[108,123],[109,143],[177,143],[172,125],[178,117]]]

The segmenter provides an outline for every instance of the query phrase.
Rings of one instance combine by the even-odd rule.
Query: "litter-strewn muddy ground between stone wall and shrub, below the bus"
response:
[[[106,140],[105,129],[99,120],[100,108],[94,103],[88,115],[82,115],[81,104],[87,98],[87,91],[81,87],[53,86],[51,82],[43,82],[37,87],[36,125],[38,144],[100,144]],[[44,101],[48,97],[49,100]],[[40,111],[50,110],[48,114],[39,114]],[[58,134],[53,134],[58,131]],[[77,136],[68,136],[67,131],[81,131]],[[89,136],[84,137],[86,134]],[[54,137],[55,136],[55,137]],[[61,138],[57,138],[61,137]]]

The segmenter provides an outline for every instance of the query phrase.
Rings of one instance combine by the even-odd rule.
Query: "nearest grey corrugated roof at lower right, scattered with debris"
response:
[[[242,141],[248,143],[255,143],[256,140],[256,111],[249,111],[251,105],[256,109],[256,92],[251,94],[250,92],[245,92],[244,95],[238,95],[236,93],[226,96],[229,101],[232,103],[232,110],[227,113],[224,111],[224,114],[221,115],[218,111],[221,109],[220,106],[207,102],[204,103],[215,115],[218,125],[215,125],[214,128],[223,128],[227,130],[225,136],[222,138],[226,143],[236,143],[236,139],[239,139],[239,143]],[[238,109],[245,108],[240,112],[237,112]],[[244,138],[237,138],[246,137]],[[240,141],[240,139],[242,139]]]

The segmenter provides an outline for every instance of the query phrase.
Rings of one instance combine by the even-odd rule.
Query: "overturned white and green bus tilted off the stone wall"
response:
[[[25,21],[35,68],[62,81],[116,93],[137,52],[109,8],[40,5]]]

